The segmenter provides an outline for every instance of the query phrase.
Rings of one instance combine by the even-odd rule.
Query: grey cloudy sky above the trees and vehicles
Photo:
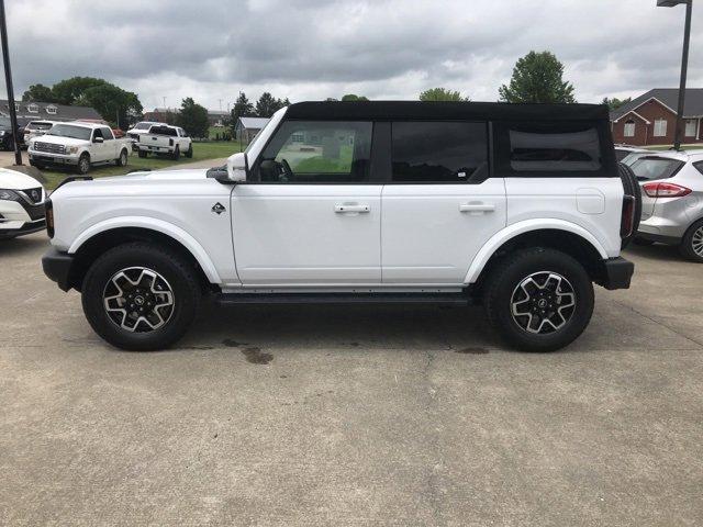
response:
[[[678,86],[684,8],[656,0],[7,0],[15,92],[80,75],[146,110],[239,90],[291,101],[416,99],[432,87],[493,101],[515,60],[554,52],[580,102]],[[703,87],[703,3],[691,87]],[[4,88],[4,87],[3,87]],[[4,93],[4,90],[2,90]],[[220,102],[222,100],[222,102]]]

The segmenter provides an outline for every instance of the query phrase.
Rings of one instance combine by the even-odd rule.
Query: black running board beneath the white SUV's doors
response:
[[[454,304],[469,305],[460,293],[219,293],[220,305],[234,304]]]

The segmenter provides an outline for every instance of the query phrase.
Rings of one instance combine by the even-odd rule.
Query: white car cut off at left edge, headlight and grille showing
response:
[[[43,231],[45,200],[46,191],[36,179],[0,168],[0,239]]]

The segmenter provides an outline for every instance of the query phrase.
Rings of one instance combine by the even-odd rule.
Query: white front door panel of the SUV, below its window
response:
[[[381,281],[381,186],[238,184],[232,210],[247,287]]]

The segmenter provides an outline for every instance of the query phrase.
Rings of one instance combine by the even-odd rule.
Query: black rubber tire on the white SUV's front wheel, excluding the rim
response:
[[[110,318],[104,307],[105,288],[123,269],[143,267],[164,277],[174,295],[170,318],[157,329],[135,333],[122,328]],[[142,242],[114,247],[100,256],[88,270],[82,283],[82,306],[93,330],[121,349],[152,351],[165,349],[181,338],[198,312],[202,296],[196,269],[179,254]]]

